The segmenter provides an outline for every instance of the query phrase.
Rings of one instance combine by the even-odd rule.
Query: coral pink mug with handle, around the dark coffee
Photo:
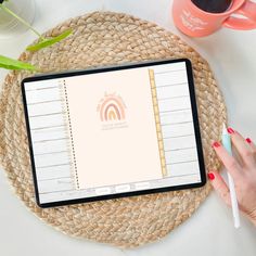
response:
[[[233,14],[243,15],[244,18]],[[191,0],[174,0],[172,16],[175,25],[191,37],[208,36],[221,26],[242,30],[254,29],[256,3],[249,0],[232,0],[227,11],[212,13],[197,8]]]

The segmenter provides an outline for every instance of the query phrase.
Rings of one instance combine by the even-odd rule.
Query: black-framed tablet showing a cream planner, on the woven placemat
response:
[[[22,94],[40,207],[205,184],[187,59],[29,77]]]

